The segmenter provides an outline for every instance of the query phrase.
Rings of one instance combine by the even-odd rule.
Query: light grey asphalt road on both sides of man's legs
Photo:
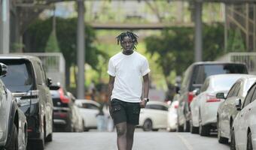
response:
[[[53,142],[46,143],[46,150],[117,150],[116,133],[84,132],[54,133]],[[203,137],[191,133],[166,131],[143,132],[137,130],[133,150],[227,150],[229,145],[218,143],[216,135]]]

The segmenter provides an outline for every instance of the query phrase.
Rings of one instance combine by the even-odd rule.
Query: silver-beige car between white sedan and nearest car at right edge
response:
[[[233,84],[230,91],[227,93],[227,98],[224,93],[218,93],[218,98],[223,98],[225,101],[218,107],[217,127],[218,127],[218,142],[227,143],[230,139],[231,127],[233,120],[239,111],[236,110],[235,102],[240,99],[243,103],[248,89],[255,83],[256,76],[243,76]]]

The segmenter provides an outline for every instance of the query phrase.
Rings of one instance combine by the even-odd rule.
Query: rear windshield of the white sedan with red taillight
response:
[[[227,91],[231,88],[231,86],[233,86],[234,83],[236,83],[236,80],[239,78],[239,76],[218,77],[212,81],[212,87],[214,89],[218,89],[218,91]]]

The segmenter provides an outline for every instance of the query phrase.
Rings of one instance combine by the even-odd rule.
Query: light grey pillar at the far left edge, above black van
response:
[[[10,51],[10,1],[0,1],[0,54]]]

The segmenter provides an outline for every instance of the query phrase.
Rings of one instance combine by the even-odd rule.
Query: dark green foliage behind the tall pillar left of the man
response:
[[[26,34],[29,34],[30,49],[36,49],[34,52],[45,52],[48,37],[52,31],[52,20],[36,20],[29,26]],[[76,65],[77,63],[77,19],[62,19],[56,18],[56,37],[59,42],[60,52],[66,59],[66,65]],[[85,60],[93,69],[99,62],[98,55],[103,55],[106,58],[105,52],[100,52],[93,46],[93,40],[96,39],[96,34],[93,28],[85,26]]]

